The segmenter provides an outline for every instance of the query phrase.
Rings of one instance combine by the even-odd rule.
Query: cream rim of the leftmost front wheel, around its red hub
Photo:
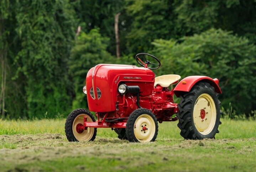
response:
[[[93,122],[92,118],[87,114],[79,114],[74,119],[72,129],[73,129],[73,134],[78,141],[89,141],[93,137],[94,128],[88,127],[87,130],[84,130],[82,133],[77,132],[76,127],[78,124],[84,123],[84,117],[87,117],[87,122]]]

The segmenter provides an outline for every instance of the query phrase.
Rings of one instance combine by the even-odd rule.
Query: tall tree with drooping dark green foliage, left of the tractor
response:
[[[25,0],[16,4],[16,32],[21,49],[17,69],[26,77],[29,118],[54,117],[71,107],[67,61],[75,35],[68,0]]]

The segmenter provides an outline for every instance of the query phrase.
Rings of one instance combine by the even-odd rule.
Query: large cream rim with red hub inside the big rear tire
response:
[[[197,98],[193,119],[200,134],[207,135],[213,130],[216,123],[216,107],[210,95],[204,93]]]

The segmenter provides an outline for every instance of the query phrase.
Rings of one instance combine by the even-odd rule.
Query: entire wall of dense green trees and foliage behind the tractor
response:
[[[231,102],[249,114],[256,109],[255,6],[254,0],[0,0],[1,117],[53,118],[85,107],[87,71],[98,63],[135,64],[140,52],[162,61],[156,75],[218,78],[224,108]]]

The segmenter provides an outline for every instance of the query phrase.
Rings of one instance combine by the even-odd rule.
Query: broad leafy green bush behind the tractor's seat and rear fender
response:
[[[206,75],[219,79],[224,108],[231,102],[237,113],[256,106],[256,47],[247,38],[210,29],[178,41],[158,39],[153,52],[163,62],[158,74]]]

